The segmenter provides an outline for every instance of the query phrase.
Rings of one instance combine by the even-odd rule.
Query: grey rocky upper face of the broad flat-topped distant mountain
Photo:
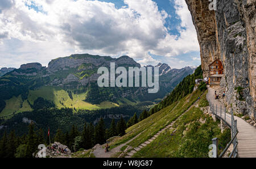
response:
[[[63,81],[54,79],[51,82],[51,85],[53,84],[57,86],[69,86],[69,83],[72,82],[77,82],[78,86],[85,86],[90,82],[96,82],[98,77],[100,77],[100,74],[97,74],[97,69],[101,66],[110,67],[111,62],[114,62],[116,67],[123,65],[141,67],[140,64],[135,62],[133,58],[130,58],[129,56],[112,58],[108,56],[93,56],[90,54],[72,54],[71,56],[56,58],[49,62],[47,72],[49,74],[55,74],[60,71],[71,69],[77,72],[91,70],[93,73],[90,74],[89,77],[86,76],[80,79],[72,73],[69,73],[68,77],[63,79]]]

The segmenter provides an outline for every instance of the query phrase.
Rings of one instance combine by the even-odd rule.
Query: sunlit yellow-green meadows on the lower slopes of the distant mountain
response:
[[[28,97],[26,100],[22,99],[22,96],[13,96],[9,100],[5,100],[6,106],[0,112],[0,117],[9,117],[13,115],[13,113],[32,111],[30,104],[34,104],[34,101],[39,97],[52,101],[56,108],[76,108],[76,109],[101,109],[101,108],[112,108],[119,107],[119,104],[109,102],[108,100],[101,102],[100,104],[91,104],[85,102],[86,92],[82,94],[74,94],[72,91],[72,99],[69,96],[68,92],[63,90],[60,87],[52,87],[52,86],[43,86],[38,90],[30,90],[28,92]],[[129,100],[128,100],[129,101]],[[127,101],[127,102],[128,102]],[[127,103],[123,102],[123,103]],[[29,104],[30,103],[30,104]],[[120,102],[120,104],[123,104]],[[131,104],[133,102],[129,102],[127,104]],[[133,103],[135,104],[135,103]]]

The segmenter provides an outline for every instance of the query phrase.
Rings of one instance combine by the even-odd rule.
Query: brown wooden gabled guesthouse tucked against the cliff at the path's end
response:
[[[219,85],[223,77],[223,65],[220,60],[214,60],[209,65],[209,84],[210,86]]]

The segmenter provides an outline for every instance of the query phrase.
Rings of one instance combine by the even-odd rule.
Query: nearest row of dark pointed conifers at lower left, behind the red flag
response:
[[[60,142],[67,145],[72,152],[81,149],[90,149],[97,143],[103,144],[110,137],[123,136],[126,130],[126,122],[121,119],[115,124],[112,120],[109,129],[105,128],[104,119],[100,119],[96,126],[90,122],[85,123],[83,130],[79,130],[76,125],[73,125],[69,132],[63,133],[61,129],[57,129],[55,136],[47,136],[43,129],[35,130],[34,122],[28,125],[28,133],[23,136],[16,136],[15,131],[12,130],[9,134],[5,132],[0,140],[0,158],[32,158],[38,145],[49,145],[49,138],[51,143]]]

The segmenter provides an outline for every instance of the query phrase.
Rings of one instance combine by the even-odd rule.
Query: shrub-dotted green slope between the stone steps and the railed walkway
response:
[[[133,157],[208,157],[212,138],[220,138],[222,150],[230,140],[230,129],[221,133],[218,125],[220,121],[213,121],[199,107],[192,107],[175,122],[176,132],[174,129],[166,130]]]

